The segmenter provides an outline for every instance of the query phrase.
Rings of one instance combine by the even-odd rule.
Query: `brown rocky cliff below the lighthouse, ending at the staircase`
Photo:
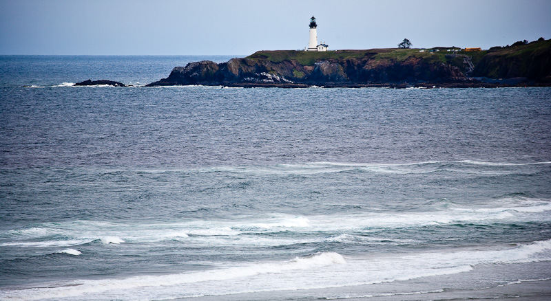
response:
[[[337,53],[337,52],[335,52]],[[352,53],[353,56],[349,54]],[[461,69],[450,63],[415,56],[405,59],[380,58],[377,53],[357,55],[355,51],[327,56],[310,52],[304,61],[300,52],[257,52],[247,58],[232,58],[227,63],[211,61],[175,67],[168,78],[152,82],[159,85],[325,85],[381,82],[450,82],[465,78]],[[273,55],[283,56],[274,59]]]

